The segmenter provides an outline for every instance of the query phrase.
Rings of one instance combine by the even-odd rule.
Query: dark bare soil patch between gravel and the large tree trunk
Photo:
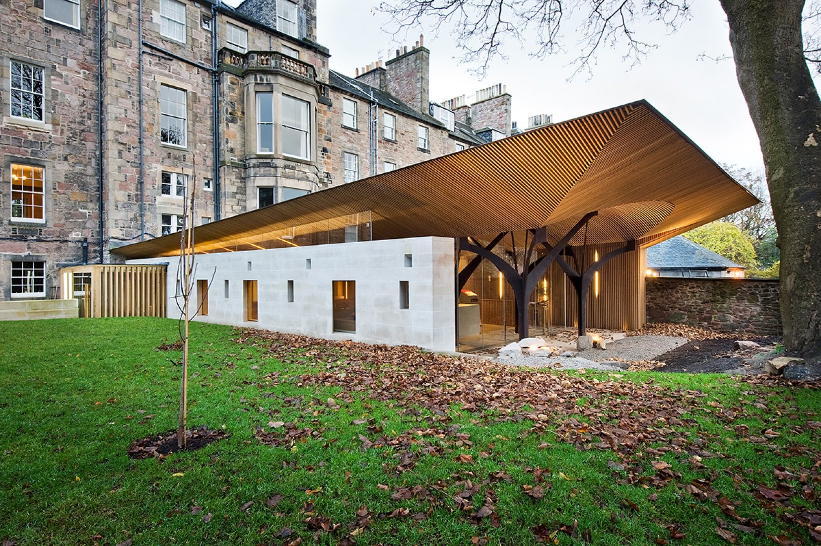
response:
[[[690,374],[698,373],[721,373],[728,370],[744,368],[748,365],[748,360],[760,352],[772,348],[775,340],[771,338],[753,339],[761,347],[756,349],[733,349],[734,339],[712,338],[712,339],[690,339],[682,346],[678,346],[663,355],[656,356],[654,360],[664,362],[665,365],[656,368],[659,372],[686,372]],[[761,361],[763,365],[764,360]],[[748,366],[749,367],[749,366]],[[756,370],[750,370],[751,372]],[[761,371],[761,370],[757,370]]]

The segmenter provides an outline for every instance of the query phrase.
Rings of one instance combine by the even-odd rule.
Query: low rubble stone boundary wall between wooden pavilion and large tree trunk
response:
[[[777,279],[647,278],[647,321],[781,335]]]

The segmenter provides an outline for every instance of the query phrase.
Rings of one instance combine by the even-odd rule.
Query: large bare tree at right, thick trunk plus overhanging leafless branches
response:
[[[717,0],[727,14],[736,75],[759,135],[778,241],[781,314],[787,351],[821,356],[821,99],[808,62],[821,61],[821,15],[805,0]],[[452,25],[468,62],[488,67],[504,39],[544,57],[562,49],[562,23],[580,21],[576,72],[589,70],[599,48],[626,48],[637,62],[653,44],[640,40],[640,21],[675,30],[690,0],[387,0],[397,32]],[[806,41],[806,47],[805,47]],[[479,68],[479,72],[482,72]],[[574,72],[575,73],[575,72]]]

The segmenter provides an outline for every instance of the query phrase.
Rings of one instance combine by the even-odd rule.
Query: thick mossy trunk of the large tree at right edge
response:
[[[759,135],[781,242],[789,353],[821,356],[821,101],[804,57],[804,0],[719,0]]]

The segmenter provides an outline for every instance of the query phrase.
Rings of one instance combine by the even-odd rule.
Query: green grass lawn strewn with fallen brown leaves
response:
[[[811,544],[821,392],[166,319],[0,322],[2,544]],[[131,542],[130,542],[131,541]]]

